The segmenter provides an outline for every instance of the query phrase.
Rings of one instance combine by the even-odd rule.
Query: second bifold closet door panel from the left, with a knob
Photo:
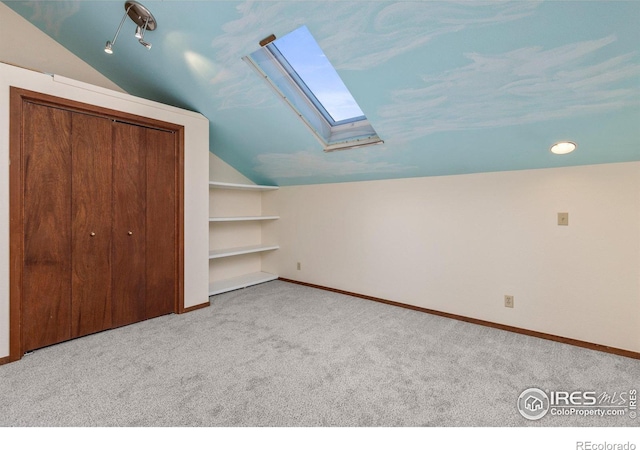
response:
[[[72,122],[71,336],[111,328],[111,120]]]

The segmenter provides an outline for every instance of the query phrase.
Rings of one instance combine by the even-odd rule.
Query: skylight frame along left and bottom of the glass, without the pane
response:
[[[325,152],[384,143],[364,115],[340,121],[333,120],[274,42],[262,46],[242,59],[295,112],[323,144]],[[358,108],[360,109],[359,106]]]

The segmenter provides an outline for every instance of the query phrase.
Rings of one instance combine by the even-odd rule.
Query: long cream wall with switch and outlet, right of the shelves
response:
[[[263,212],[281,217],[265,228],[280,250],[263,270],[640,351],[640,163],[284,187],[263,198]]]

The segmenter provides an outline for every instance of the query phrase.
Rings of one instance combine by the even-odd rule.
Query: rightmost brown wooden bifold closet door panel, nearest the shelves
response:
[[[177,299],[175,133],[148,128],[146,318],[169,314]]]

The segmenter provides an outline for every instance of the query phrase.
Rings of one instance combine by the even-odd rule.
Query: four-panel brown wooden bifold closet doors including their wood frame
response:
[[[10,105],[10,360],[183,312],[182,127],[14,87]]]

